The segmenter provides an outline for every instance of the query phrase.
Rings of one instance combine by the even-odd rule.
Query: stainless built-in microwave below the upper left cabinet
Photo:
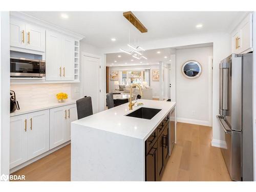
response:
[[[27,58],[10,58],[11,77],[42,78],[46,76],[46,62]]]

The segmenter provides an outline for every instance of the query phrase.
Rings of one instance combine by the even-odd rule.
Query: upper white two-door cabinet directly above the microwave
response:
[[[10,46],[45,52],[45,29],[10,19]]]

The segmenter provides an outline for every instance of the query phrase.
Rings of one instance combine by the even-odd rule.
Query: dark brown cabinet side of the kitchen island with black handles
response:
[[[170,114],[172,114],[172,112]],[[168,114],[145,141],[146,181],[160,181],[165,165],[169,159],[169,119]]]

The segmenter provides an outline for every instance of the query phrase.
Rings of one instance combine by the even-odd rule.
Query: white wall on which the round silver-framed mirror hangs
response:
[[[177,120],[211,126],[209,119],[209,56],[212,47],[176,50],[176,102]],[[186,78],[181,68],[184,62],[196,60],[202,67],[198,78]],[[193,111],[195,115],[193,115]]]

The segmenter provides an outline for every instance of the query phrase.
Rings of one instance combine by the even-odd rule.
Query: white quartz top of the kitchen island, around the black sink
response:
[[[133,110],[130,111],[128,103],[125,103],[115,108],[73,121],[72,124],[146,140],[176,104],[176,102],[146,99],[137,99],[137,102],[142,102],[144,104],[143,107],[161,109],[161,111],[150,120],[129,117],[125,115],[142,106],[133,106]]]

